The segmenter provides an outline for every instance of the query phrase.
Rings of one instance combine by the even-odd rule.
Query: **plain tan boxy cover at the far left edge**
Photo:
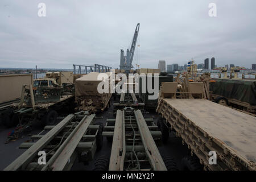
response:
[[[32,85],[32,74],[0,75],[0,103],[20,98],[22,85]]]

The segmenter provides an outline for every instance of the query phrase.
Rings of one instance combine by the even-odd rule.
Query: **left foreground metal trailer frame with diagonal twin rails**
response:
[[[22,143],[19,148],[28,148],[13,163],[5,168],[10,170],[69,170],[76,158],[80,162],[93,159],[97,148],[96,138],[102,137],[99,125],[94,125],[95,114],[86,111],[69,114],[56,126],[46,126],[50,129],[45,135],[43,131],[31,138],[37,142]],[[38,152],[46,152],[46,164],[39,164]]]

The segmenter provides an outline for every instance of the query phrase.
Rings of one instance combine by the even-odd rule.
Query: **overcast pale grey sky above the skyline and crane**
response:
[[[38,4],[46,4],[46,17]],[[210,17],[209,3],[217,17]],[[141,23],[133,65],[184,65],[214,56],[218,66],[256,63],[256,1],[0,1],[0,67],[119,67]]]

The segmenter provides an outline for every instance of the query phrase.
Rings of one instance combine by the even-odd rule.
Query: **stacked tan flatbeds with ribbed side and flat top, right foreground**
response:
[[[161,98],[166,125],[183,139],[205,169],[255,170],[256,118],[204,99]],[[216,151],[217,164],[209,164]]]

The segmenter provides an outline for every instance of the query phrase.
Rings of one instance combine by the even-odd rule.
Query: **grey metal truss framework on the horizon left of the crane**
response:
[[[76,69],[78,67],[78,69]],[[82,71],[83,68],[83,71]],[[90,72],[98,72],[100,73],[103,72],[110,72],[110,69],[112,67],[108,67],[105,65],[100,65],[100,64],[94,64],[94,65],[79,65],[79,64],[73,64],[73,73],[74,74],[87,74],[88,73],[88,68]]]

